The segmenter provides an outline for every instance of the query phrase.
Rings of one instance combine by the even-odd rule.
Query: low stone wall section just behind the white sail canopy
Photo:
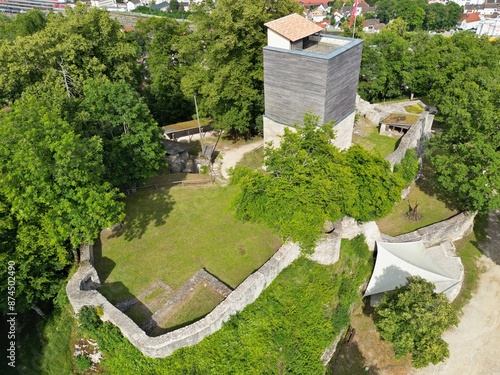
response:
[[[458,241],[472,232],[476,213],[462,212],[448,220],[417,229],[416,231],[391,237],[382,235],[385,242],[412,242],[422,240],[426,247],[446,241]]]

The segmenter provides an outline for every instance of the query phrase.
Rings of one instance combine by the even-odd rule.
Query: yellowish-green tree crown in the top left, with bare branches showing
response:
[[[0,100],[15,100],[41,82],[63,87],[68,96],[81,95],[90,78],[138,87],[137,57],[137,44],[108,12],[78,3],[66,15],[49,14],[38,32],[0,44]]]

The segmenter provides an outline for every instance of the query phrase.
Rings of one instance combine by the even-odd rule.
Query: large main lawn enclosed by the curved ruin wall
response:
[[[236,287],[281,245],[271,230],[235,220],[234,187],[174,186],[127,199],[125,227],[101,235],[96,268],[112,302],[137,296],[155,280],[177,289],[201,268]],[[102,281],[102,280],[101,280]]]

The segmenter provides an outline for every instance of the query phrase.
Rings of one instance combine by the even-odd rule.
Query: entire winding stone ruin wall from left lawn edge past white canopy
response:
[[[352,218],[344,218],[335,223],[334,236],[328,246],[318,246],[311,259],[322,264],[332,264],[338,260],[341,238],[354,238],[364,234],[370,250],[375,241],[409,242],[422,239],[427,247],[445,242],[456,241],[472,231],[475,214],[460,213],[454,217],[418,229],[414,232],[390,237],[380,233],[375,222],[358,224]],[[328,242],[328,238],[325,243]],[[99,276],[93,266],[92,246],[81,248],[80,266],[66,286],[66,293],[75,312],[83,306],[101,306],[102,319],[116,325],[122,334],[144,355],[163,358],[176,349],[199,343],[206,336],[218,331],[222,325],[247,305],[253,303],[261,292],[271,284],[278,274],[288,267],[300,255],[295,244],[283,245],[274,256],[259,270],[247,277],[229,296],[212,312],[195,323],[161,336],[150,337],[139,328],[125,313],[111,304],[96,287],[100,285]]]

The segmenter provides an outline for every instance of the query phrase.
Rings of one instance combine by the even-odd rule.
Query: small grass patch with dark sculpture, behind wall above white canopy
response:
[[[413,207],[416,203],[419,205],[418,212],[422,218],[419,221],[412,221],[407,213],[409,206]],[[383,233],[396,236],[448,219],[456,213],[458,212],[448,209],[445,203],[425,194],[413,185],[410,195],[397,203],[389,215],[377,220],[377,225]]]

